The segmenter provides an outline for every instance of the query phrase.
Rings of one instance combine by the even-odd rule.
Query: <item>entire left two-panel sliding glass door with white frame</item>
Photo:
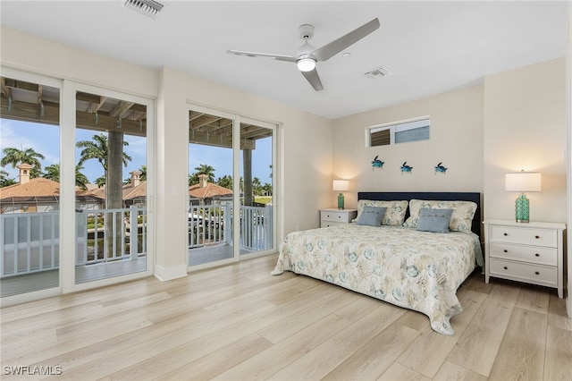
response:
[[[153,100],[2,68],[2,304],[152,274]]]

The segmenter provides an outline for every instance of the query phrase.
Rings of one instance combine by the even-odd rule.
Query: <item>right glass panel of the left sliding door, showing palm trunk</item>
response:
[[[88,87],[75,97],[74,284],[145,274],[152,233],[146,101]]]

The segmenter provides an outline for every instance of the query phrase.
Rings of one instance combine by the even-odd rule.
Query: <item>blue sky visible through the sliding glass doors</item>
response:
[[[44,155],[42,169],[47,165],[58,164],[60,154],[60,128],[59,126],[28,123],[0,119],[0,149],[4,148],[33,148],[36,152]],[[91,140],[97,131],[76,130],[76,141]],[[125,152],[132,160],[126,168],[123,168],[123,179],[130,177],[130,172],[138,170],[141,165],[146,164],[146,140],[144,138],[125,135],[124,140],[129,142]],[[4,154],[2,154],[4,157]],[[80,157],[80,148],[76,148],[76,162]],[[272,182],[270,178],[272,164],[272,139],[257,140],[257,149],[252,153],[253,176],[258,177],[261,183]],[[196,144],[189,146],[189,172],[195,172],[198,165],[206,164],[214,167],[214,178],[218,179],[225,174],[232,174],[232,153],[229,148],[215,148],[199,146]],[[8,165],[2,168],[9,175],[8,177],[18,180],[18,169]],[[95,182],[97,177],[103,175],[103,168],[97,160],[88,160],[84,164],[83,174],[88,176],[89,182]],[[242,170],[240,170],[242,174]]]

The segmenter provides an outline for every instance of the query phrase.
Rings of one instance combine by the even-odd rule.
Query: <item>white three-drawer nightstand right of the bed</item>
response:
[[[558,289],[563,295],[565,224],[484,221],[484,282],[491,276]]]

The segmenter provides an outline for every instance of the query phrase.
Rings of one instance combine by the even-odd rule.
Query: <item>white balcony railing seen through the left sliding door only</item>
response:
[[[1,277],[59,267],[59,216],[58,211],[0,215]],[[76,212],[76,266],[145,256],[146,218],[139,207]]]

